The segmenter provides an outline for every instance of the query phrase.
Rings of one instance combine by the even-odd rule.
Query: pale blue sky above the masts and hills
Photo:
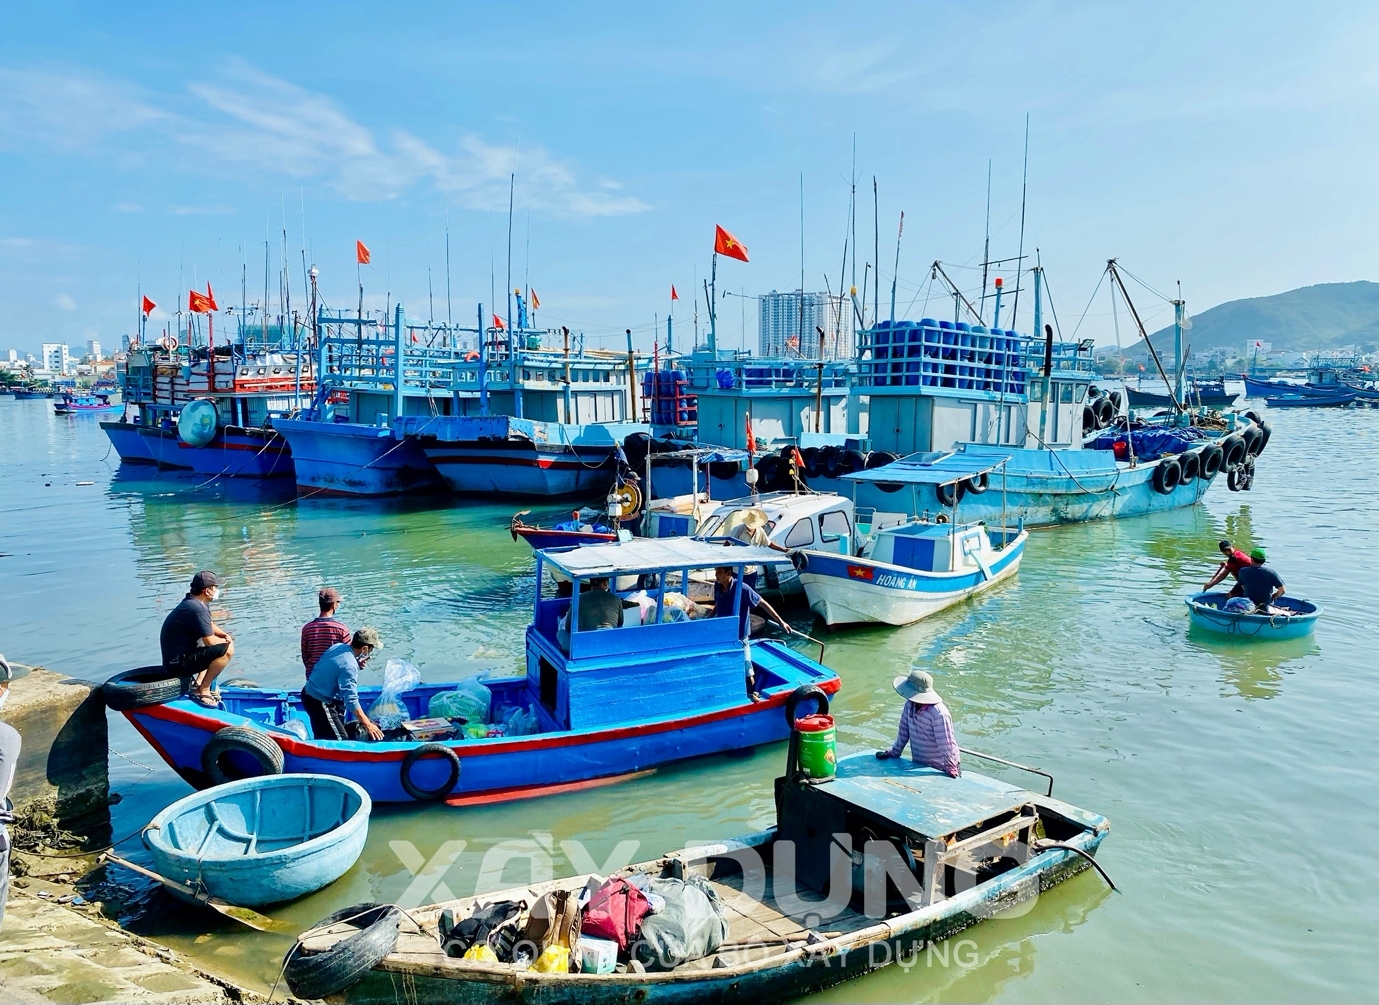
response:
[[[354,302],[361,238],[370,306],[427,317],[429,265],[443,318],[447,203],[470,321],[491,276],[502,298],[512,171],[513,278],[541,323],[650,345],[674,283],[684,345],[714,223],[752,252],[723,263],[720,294],[798,287],[801,171],[805,285],[837,287],[854,134],[858,273],[876,175],[883,313],[903,210],[898,313],[943,316],[928,266],[979,285],[989,160],[992,256],[1016,252],[1026,113],[1025,251],[1065,332],[1113,255],[1162,292],[1180,280],[1194,312],[1376,278],[1379,7],[132,10],[0,8],[0,347],[116,345],[141,284],[154,327],[193,283],[237,305],[241,261],[262,299],[284,222],[294,307],[303,248],[327,302]],[[754,305],[743,329],[743,303],[720,303],[720,342],[754,342]],[[1110,342],[1109,312],[1102,287],[1080,334]]]

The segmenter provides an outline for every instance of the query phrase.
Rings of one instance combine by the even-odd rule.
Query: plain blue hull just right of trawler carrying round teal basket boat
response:
[[[273,429],[288,443],[296,487],[313,495],[397,495],[444,485],[421,448],[386,426],[274,419]]]

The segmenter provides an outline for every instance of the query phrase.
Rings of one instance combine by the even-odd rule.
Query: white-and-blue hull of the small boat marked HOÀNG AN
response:
[[[954,604],[989,590],[1019,569],[1027,534],[997,553],[992,575],[975,572],[934,573],[867,558],[807,553],[800,582],[809,609],[830,627],[834,625],[913,625]]]

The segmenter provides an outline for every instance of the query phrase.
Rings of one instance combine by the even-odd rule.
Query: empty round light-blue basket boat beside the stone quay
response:
[[[348,873],[372,801],[328,775],[247,778],[178,800],[143,829],[154,870],[245,907],[295,900]]]

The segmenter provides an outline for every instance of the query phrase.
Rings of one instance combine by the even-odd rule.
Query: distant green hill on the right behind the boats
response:
[[[1285,352],[1347,345],[1368,345],[1364,352],[1373,352],[1379,345],[1379,283],[1322,283],[1273,296],[1230,301],[1191,314],[1191,323],[1183,341],[1194,353],[1216,346],[1238,346],[1244,352],[1251,339],[1271,342],[1274,350]],[[1172,352],[1174,329],[1161,328],[1150,339],[1156,349]]]

